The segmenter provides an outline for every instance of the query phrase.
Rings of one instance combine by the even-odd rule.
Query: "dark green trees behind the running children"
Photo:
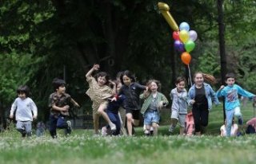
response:
[[[42,114],[51,81],[65,78],[68,92],[87,104],[85,73],[94,63],[115,76],[130,69],[140,82],[162,82],[169,95],[177,76],[185,75],[174,52],[172,31],[155,0],[4,1],[0,4],[0,101],[10,106],[20,84],[28,84]],[[178,24],[198,32],[191,54],[192,72],[220,78],[216,1],[168,1]],[[227,69],[254,92],[255,1],[224,1]],[[2,110],[3,111],[3,110]]]

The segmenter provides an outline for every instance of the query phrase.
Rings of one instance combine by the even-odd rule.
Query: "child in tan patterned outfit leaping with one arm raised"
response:
[[[98,71],[98,69],[99,65],[94,64],[93,68],[91,68],[90,71],[86,73],[86,80],[89,83],[89,89],[87,90],[86,94],[93,101],[92,108],[94,119],[94,135],[98,135],[98,119],[100,115],[102,115],[102,117],[110,125],[112,131],[116,130],[115,124],[110,121],[110,118],[105,112],[108,99],[116,94],[116,84],[109,80],[110,77],[106,72],[98,72],[95,78],[91,76],[91,74],[94,71]],[[113,89],[110,88],[108,85],[109,83],[113,84]]]

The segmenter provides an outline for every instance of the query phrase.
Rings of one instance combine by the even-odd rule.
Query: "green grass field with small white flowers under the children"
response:
[[[170,115],[163,113],[163,115]],[[244,119],[254,115],[249,103]],[[237,138],[218,136],[222,109],[214,107],[206,135],[169,135],[161,126],[158,137],[145,137],[142,127],[135,137],[93,137],[91,130],[74,130],[58,139],[50,135],[21,139],[14,128],[0,134],[0,163],[254,163],[256,135]]]

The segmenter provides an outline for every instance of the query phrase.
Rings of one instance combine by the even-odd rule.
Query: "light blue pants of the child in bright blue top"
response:
[[[226,110],[226,136],[230,137],[233,117],[236,116],[238,119],[242,118],[240,107],[235,107],[232,110]]]

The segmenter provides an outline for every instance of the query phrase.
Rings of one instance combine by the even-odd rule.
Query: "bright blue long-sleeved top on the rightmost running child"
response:
[[[240,106],[238,94],[249,98],[253,98],[255,96],[253,93],[247,92],[237,84],[234,84],[233,86],[226,86],[217,92],[218,97],[225,96],[225,109],[227,111]]]

